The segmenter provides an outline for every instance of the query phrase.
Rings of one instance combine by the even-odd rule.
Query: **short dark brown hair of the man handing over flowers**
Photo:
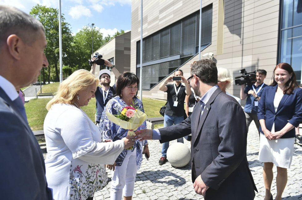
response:
[[[201,59],[195,62],[191,68],[191,75],[195,74],[203,83],[217,84],[217,73],[216,63],[210,59]]]

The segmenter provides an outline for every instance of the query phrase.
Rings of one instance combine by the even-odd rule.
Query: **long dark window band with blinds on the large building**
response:
[[[212,42],[212,4],[204,7],[202,14],[201,46],[207,46]],[[196,27],[199,27],[199,11],[143,39],[143,63],[147,65],[143,67],[143,90],[158,84],[198,52],[199,28]],[[136,64],[140,64],[140,41],[136,42]],[[136,68],[136,75],[140,76],[140,68]]]

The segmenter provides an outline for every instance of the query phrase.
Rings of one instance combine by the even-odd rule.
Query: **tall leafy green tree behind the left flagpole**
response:
[[[38,19],[45,28],[45,36],[47,41],[47,48],[45,49],[45,55],[48,59],[48,82],[50,81],[50,67],[55,68],[54,81],[59,81],[59,11],[54,8],[49,8],[46,6],[41,6],[37,4],[34,6],[30,13],[36,19]],[[69,29],[69,24],[64,22],[65,18],[62,14],[61,16],[61,29],[62,29],[62,54],[63,63],[69,66],[75,66],[75,62],[71,63],[73,60],[70,59],[73,55],[73,48],[71,46],[73,37],[71,35],[71,30]],[[45,82],[44,68],[41,73],[43,74],[43,81]]]

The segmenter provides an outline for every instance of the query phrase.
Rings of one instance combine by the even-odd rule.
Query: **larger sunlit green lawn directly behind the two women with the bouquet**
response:
[[[42,92],[44,92],[43,88]],[[32,130],[43,130],[44,118],[48,112],[45,107],[49,100],[50,98],[31,99],[25,104],[28,123]],[[159,109],[165,104],[165,101],[143,98],[143,104],[148,118],[161,117]],[[88,106],[83,106],[82,109],[94,122],[95,98],[92,98]],[[156,127],[162,127],[162,125],[159,124]]]

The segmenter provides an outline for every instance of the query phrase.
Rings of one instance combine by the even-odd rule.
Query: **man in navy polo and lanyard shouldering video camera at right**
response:
[[[245,84],[242,84],[240,90],[241,100],[247,98],[244,106],[247,131],[249,131],[250,123],[254,120],[259,136],[260,136],[260,132],[259,132],[260,123],[258,121],[257,111],[258,111],[258,102],[260,100],[263,88],[267,86],[263,82],[264,78],[266,78],[266,70],[257,70],[256,82],[251,85],[248,84],[246,87]]]

